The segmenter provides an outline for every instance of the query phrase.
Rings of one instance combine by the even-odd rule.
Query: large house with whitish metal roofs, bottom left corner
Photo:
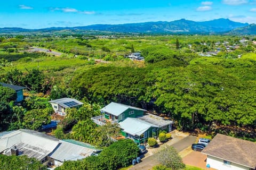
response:
[[[78,160],[97,152],[93,146],[75,141],[59,140],[41,132],[20,129],[10,133],[0,133],[0,154],[26,155],[36,158],[43,165],[59,166],[65,160]]]

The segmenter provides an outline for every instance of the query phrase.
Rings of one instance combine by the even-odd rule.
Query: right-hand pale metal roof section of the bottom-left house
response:
[[[60,140],[60,144],[54,149],[49,156],[53,159],[64,162],[65,160],[78,160],[91,156],[94,149],[86,148],[83,146],[75,145],[63,140]]]

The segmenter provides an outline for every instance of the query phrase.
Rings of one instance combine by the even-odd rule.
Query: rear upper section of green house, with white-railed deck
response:
[[[103,113],[102,115],[91,118],[91,120],[98,125],[104,125],[107,122],[119,123],[124,121],[127,117],[135,118],[143,116],[144,113],[147,112],[145,109],[114,102],[103,107],[100,111]]]

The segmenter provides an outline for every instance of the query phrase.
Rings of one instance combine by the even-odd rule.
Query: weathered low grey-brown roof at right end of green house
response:
[[[173,123],[173,121],[171,121],[171,120],[168,120],[168,119],[165,119],[163,117],[156,116],[153,114],[149,114],[149,113],[147,113],[146,115],[143,115],[141,117],[138,117],[138,119],[148,122],[148,123],[151,123],[151,124],[154,124],[158,128],[161,128],[163,126],[167,126],[167,125]]]

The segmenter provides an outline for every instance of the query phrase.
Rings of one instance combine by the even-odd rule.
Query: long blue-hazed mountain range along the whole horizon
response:
[[[171,22],[143,22],[126,24],[94,24],[82,27],[51,27],[44,29],[0,28],[0,33],[58,31],[58,30],[93,30],[123,33],[237,33],[256,34],[255,24],[234,22],[229,19],[216,19],[196,22],[186,19]]]

